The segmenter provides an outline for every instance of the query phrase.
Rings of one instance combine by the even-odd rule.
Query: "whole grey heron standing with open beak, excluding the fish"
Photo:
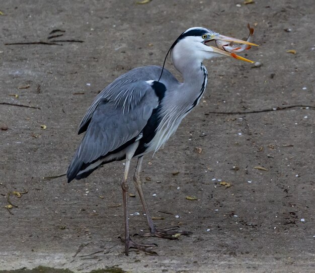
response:
[[[221,49],[219,46],[207,45],[213,40],[219,42]],[[152,245],[136,243],[129,235],[128,173],[133,157],[137,157],[133,180],[150,230],[146,235],[175,239],[177,233],[189,234],[175,229],[157,229],[153,224],[141,185],[143,155],[155,152],[163,146],[175,133],[183,118],[199,103],[208,79],[207,69],[202,61],[219,56],[249,61],[232,52],[233,42],[257,46],[202,27],[186,30],[167,53],[167,56],[171,55],[175,68],[182,74],[183,82],[179,82],[164,68],[167,56],[163,67],[134,68],[103,89],[81,121],[78,134],[85,132],[85,135],[68,167],[67,180],[70,182],[74,178],[85,178],[103,164],[126,160],[121,184],[126,255],[129,248],[155,253],[147,248]],[[224,46],[231,47],[231,50],[225,50]],[[240,52],[240,47],[236,49]]]

